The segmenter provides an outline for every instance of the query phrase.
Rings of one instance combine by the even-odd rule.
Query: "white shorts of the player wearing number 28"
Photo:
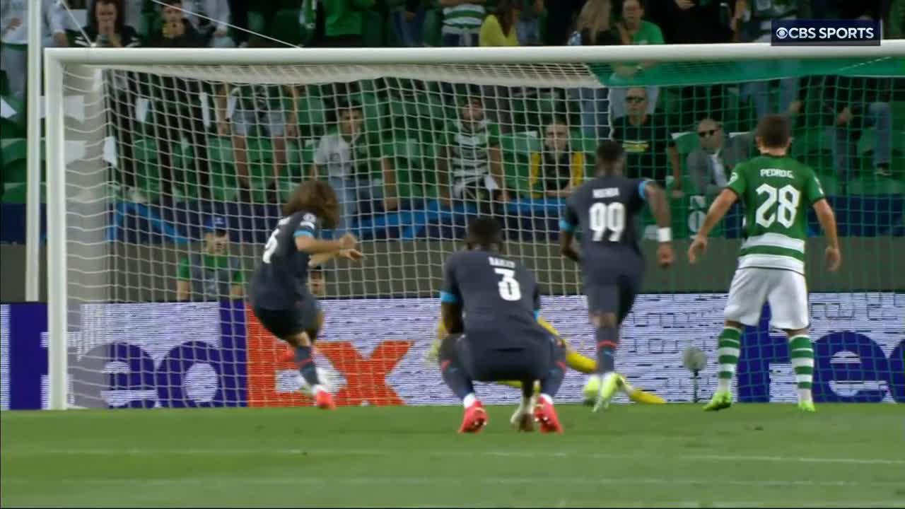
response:
[[[729,287],[726,320],[756,326],[764,303],[770,303],[770,325],[776,329],[795,331],[811,322],[804,275],[758,267],[736,270]]]

